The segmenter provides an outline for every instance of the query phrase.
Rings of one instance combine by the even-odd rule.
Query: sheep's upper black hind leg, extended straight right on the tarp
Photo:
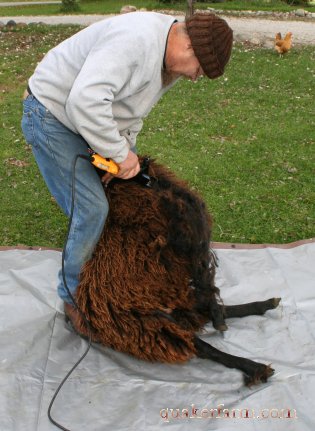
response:
[[[252,315],[265,314],[267,310],[273,310],[278,307],[281,298],[270,298],[266,301],[249,302],[241,305],[223,306],[223,315],[226,319],[229,317],[244,317]]]

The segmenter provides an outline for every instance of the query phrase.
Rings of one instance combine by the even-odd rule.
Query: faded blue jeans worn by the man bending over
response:
[[[37,165],[63,212],[71,211],[72,166],[77,154],[88,155],[86,141],[60,123],[34,96],[23,102],[22,130]],[[108,214],[102,182],[91,163],[78,159],[74,213],[65,249],[65,274],[75,295],[83,264],[91,257]],[[59,271],[58,294],[72,303]]]

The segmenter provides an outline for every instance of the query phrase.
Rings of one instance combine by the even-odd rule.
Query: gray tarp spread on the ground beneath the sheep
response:
[[[226,304],[273,296],[282,302],[265,316],[229,320],[224,337],[210,324],[203,338],[272,363],[270,381],[247,388],[239,371],[210,361],[148,364],[93,345],[58,395],[58,422],[71,431],[314,431],[315,243],[216,251]],[[51,250],[0,252],[1,431],[56,430],[49,402],[86,348],[64,323],[56,294],[60,259]],[[211,417],[220,406],[226,410]],[[243,410],[227,418],[233,409]]]

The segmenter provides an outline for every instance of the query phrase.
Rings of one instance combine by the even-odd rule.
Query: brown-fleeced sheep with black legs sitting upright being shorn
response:
[[[242,370],[247,383],[266,381],[270,366],[221,352],[196,333],[209,321],[224,331],[225,318],[263,314],[279,299],[224,306],[204,202],[165,167],[150,161],[143,169],[151,187],[113,180],[106,188],[109,216],[76,295],[92,339],[152,362],[212,359]]]

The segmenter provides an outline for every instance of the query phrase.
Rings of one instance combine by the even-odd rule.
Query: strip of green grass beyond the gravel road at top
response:
[[[11,0],[9,0],[11,1]],[[14,1],[14,0],[12,0]],[[158,0],[134,0],[131,2],[138,9],[145,7],[148,10],[152,9],[176,9],[186,10],[186,2],[165,4]],[[81,0],[80,11],[73,12],[73,14],[108,14],[119,13],[122,6],[126,5],[125,0]],[[281,0],[232,0],[224,3],[211,3],[211,2],[197,2],[196,9],[205,9],[212,7],[224,10],[273,10],[273,11],[290,11],[297,9],[298,6],[290,6]],[[315,12],[315,5],[309,4],[303,6],[309,11]],[[12,6],[1,7],[1,16],[17,16],[17,15],[58,15],[60,14],[59,5],[31,5],[31,6]]]

